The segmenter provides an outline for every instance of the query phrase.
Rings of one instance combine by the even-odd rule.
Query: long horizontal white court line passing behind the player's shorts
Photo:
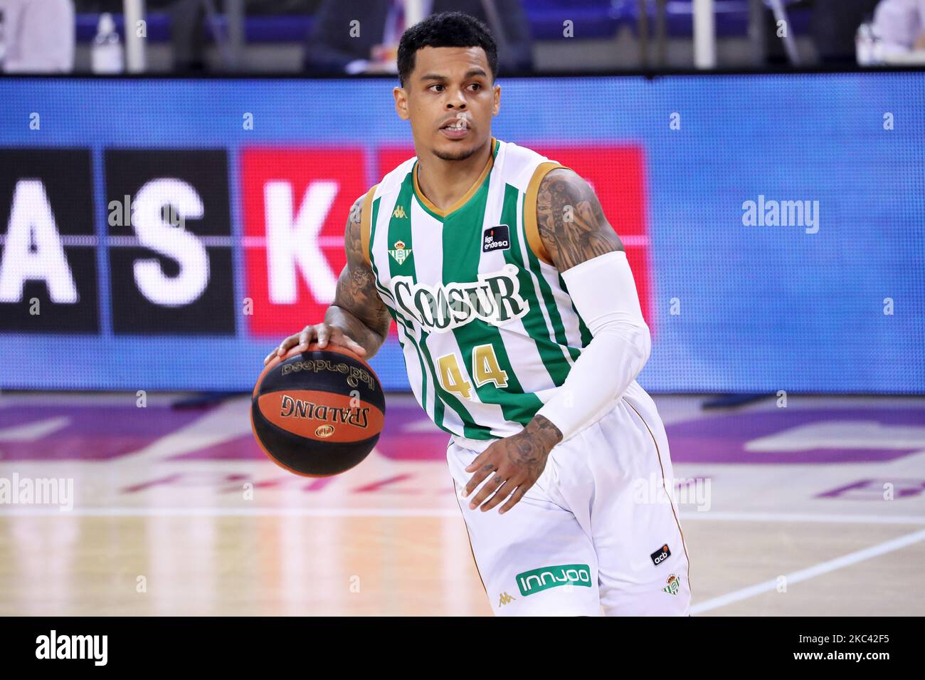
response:
[[[0,504],[3,508],[3,504]],[[456,508],[273,508],[273,507],[190,507],[160,508],[151,506],[117,506],[101,508],[77,507],[62,512],[56,505],[17,506],[0,509],[3,517],[48,517],[71,514],[80,517],[459,517]],[[796,514],[796,513],[690,513],[681,517],[689,520],[719,520],[723,522],[821,522],[836,524],[925,525],[925,516],[897,514]]]

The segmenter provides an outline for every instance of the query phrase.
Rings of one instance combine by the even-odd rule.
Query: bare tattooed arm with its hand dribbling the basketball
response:
[[[293,347],[307,349],[310,342],[326,347],[330,342],[356,352],[364,359],[372,358],[388,335],[391,316],[376,291],[376,278],[369,261],[364,257],[361,237],[361,210],[364,196],[352,205],[344,231],[344,249],[347,265],[340,272],[334,302],[327,308],[325,320],[290,335],[270,352],[264,364],[275,355],[283,356]]]

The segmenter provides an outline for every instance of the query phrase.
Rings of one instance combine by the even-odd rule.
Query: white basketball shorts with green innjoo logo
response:
[[[447,462],[496,615],[690,614],[668,438],[644,389],[634,382],[609,413],[554,447],[504,514],[501,504],[470,510],[476,491],[461,495],[475,474],[465,468],[490,443],[450,438]]]

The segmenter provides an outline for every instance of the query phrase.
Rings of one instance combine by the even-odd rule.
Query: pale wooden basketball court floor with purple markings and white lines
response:
[[[0,502],[0,614],[498,606],[452,497],[447,436],[409,395],[389,395],[370,458],[315,480],[265,460],[247,397],[172,409],[179,396],[0,395],[0,484],[64,480],[56,503]],[[656,402],[694,615],[925,614],[925,400]]]

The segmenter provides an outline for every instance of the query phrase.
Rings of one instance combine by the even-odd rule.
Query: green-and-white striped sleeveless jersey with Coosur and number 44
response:
[[[369,191],[362,218],[414,396],[465,439],[523,429],[591,341],[536,229],[539,182],[562,166],[491,145],[482,176],[449,210],[419,191],[414,157]]]

